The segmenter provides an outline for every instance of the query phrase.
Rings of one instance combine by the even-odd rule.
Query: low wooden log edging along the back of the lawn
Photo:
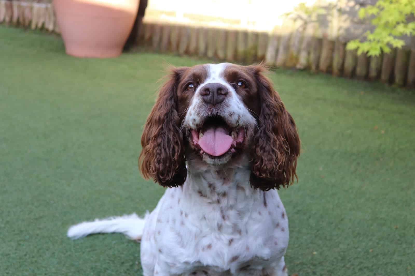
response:
[[[59,34],[50,3],[0,0],[0,22],[43,28]],[[377,80],[415,87],[415,40],[412,48],[393,49],[378,57],[357,55],[335,31],[322,32],[317,23],[286,20],[273,31],[190,26],[144,17],[138,43],[162,53],[190,55],[217,61],[296,68],[336,76]],[[336,29],[337,28],[337,29]]]

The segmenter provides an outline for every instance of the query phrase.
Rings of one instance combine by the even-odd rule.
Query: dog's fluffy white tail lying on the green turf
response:
[[[97,233],[123,233],[132,240],[141,239],[147,215],[139,218],[135,213],[125,216],[115,216],[103,220],[82,222],[68,229],[68,237],[71,239],[83,238]]]

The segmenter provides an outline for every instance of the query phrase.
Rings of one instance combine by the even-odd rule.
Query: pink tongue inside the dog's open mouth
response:
[[[210,127],[200,138],[199,146],[207,154],[221,156],[232,146],[233,139],[227,133],[223,127]]]

